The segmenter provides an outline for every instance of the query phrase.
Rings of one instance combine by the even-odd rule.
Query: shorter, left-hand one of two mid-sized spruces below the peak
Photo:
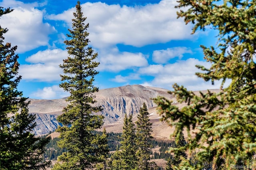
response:
[[[124,163],[122,168],[132,170],[136,166],[136,151],[138,148],[135,143],[136,137],[134,123],[132,122],[132,115],[129,115],[128,117],[127,114],[125,114],[124,116],[124,126],[121,139],[120,158]]]

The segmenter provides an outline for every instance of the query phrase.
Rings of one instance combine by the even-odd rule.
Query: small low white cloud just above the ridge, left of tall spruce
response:
[[[33,92],[30,96],[31,98],[40,98],[40,99],[58,99],[69,96],[68,92],[64,92],[62,88],[57,85],[51,87],[44,87],[43,89],[38,89],[36,92]]]

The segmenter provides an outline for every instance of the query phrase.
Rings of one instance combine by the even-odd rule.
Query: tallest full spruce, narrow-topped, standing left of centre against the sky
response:
[[[89,39],[80,2],[77,2],[76,12],[73,13],[72,30],[68,29],[70,40],[64,41],[68,45],[69,57],[63,60],[60,67],[64,75],[61,75],[60,87],[70,92],[66,101],[70,102],[63,109],[63,114],[58,121],[64,126],[59,127],[62,140],[58,143],[65,147],[67,152],[58,156],[58,163],[54,170],[84,170],[94,167],[102,162],[102,156],[107,150],[102,150],[103,137],[94,131],[103,125],[103,116],[95,113],[101,111],[101,107],[94,107],[96,103],[94,92],[98,88],[93,85],[94,76],[98,74],[95,68],[99,65],[95,61],[98,56],[91,47],[88,47]]]

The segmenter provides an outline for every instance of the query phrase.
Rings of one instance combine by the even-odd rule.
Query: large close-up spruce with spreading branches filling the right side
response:
[[[220,92],[199,95],[174,84],[170,93],[187,103],[181,109],[165,98],[155,100],[163,119],[176,125],[175,133],[188,129],[186,148],[199,150],[196,164],[184,160],[178,168],[202,169],[204,162],[212,161],[214,169],[232,169],[231,160],[233,165],[243,160],[244,166],[256,167],[256,1],[179,0],[177,8],[183,9],[178,17],[194,24],[192,33],[209,26],[218,31],[217,49],[201,46],[212,65],[197,66],[204,72],[196,75],[212,84],[222,82]],[[230,56],[228,49],[234,43]],[[224,88],[228,79],[231,83]]]

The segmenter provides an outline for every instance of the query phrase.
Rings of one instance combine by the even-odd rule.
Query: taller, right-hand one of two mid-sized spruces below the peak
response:
[[[150,123],[150,119],[148,118],[148,109],[145,103],[140,108],[140,113],[138,114],[138,120],[136,121],[136,145],[138,147],[138,151],[136,155],[138,156],[138,164],[137,169],[139,170],[149,170],[150,163],[150,151],[152,148],[151,140],[152,140],[152,123]]]

